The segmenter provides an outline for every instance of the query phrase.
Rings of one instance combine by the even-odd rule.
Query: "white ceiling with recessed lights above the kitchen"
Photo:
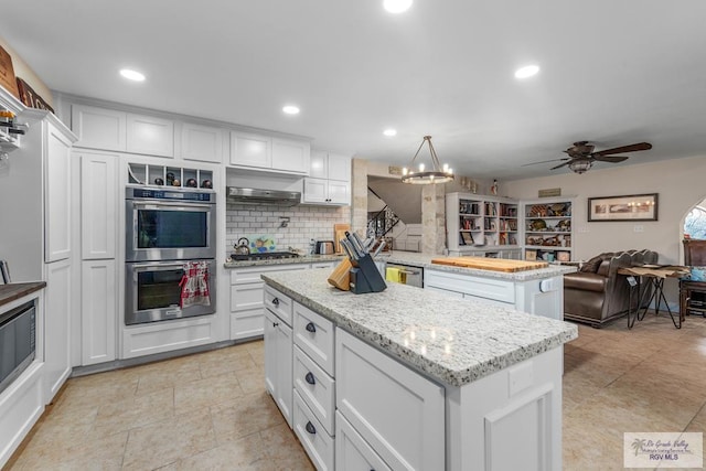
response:
[[[703,0],[24,0],[0,35],[56,90],[398,165],[429,133],[457,173],[506,180],[577,140],[654,146],[624,164],[706,156],[705,20]]]

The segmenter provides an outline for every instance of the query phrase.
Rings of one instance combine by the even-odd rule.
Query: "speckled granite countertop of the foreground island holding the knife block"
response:
[[[576,325],[406,285],[354,295],[325,270],[263,275],[265,282],[382,351],[437,379],[462,386],[556,349]]]

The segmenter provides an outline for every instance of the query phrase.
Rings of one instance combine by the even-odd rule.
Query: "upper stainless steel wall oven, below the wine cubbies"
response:
[[[215,193],[128,188],[127,261],[215,258]]]

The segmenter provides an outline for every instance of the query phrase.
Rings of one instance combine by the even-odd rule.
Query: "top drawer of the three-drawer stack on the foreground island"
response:
[[[324,372],[333,374],[333,323],[295,302],[295,345]]]

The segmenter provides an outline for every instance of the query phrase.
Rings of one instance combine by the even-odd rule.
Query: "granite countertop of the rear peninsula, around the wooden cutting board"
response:
[[[527,281],[533,279],[544,279],[555,277],[564,274],[573,274],[577,270],[576,266],[549,264],[547,268],[539,268],[536,270],[525,271],[494,271],[494,270],[481,270],[477,268],[454,267],[450,265],[437,265],[432,264],[434,258],[446,258],[443,255],[428,255],[414,251],[400,251],[393,250],[388,254],[384,254],[377,257],[379,261],[386,261],[389,264],[408,265],[411,267],[419,267],[425,269],[435,269],[439,271],[450,271],[461,275],[473,275],[484,278],[500,278],[505,280]],[[454,257],[456,258],[456,257]]]

